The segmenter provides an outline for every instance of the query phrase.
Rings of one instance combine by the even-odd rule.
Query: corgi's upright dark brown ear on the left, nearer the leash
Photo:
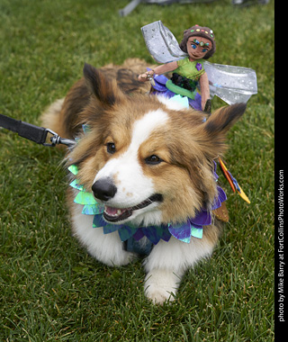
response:
[[[108,79],[102,71],[87,63],[83,68],[83,74],[87,88],[103,107],[111,107],[121,101],[122,94],[115,80]]]

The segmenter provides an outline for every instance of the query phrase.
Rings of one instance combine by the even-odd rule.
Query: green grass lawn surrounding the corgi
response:
[[[1,0],[0,112],[39,124],[85,62],[150,63],[141,26],[161,20],[180,40],[208,25],[211,62],[257,70],[258,94],[229,132],[226,157],[251,204],[225,185],[230,220],[219,246],[185,275],[172,305],[154,306],[140,261],[103,266],[71,236],[61,154],[0,130],[0,340],[273,341],[274,1],[139,4],[119,17],[128,3]]]

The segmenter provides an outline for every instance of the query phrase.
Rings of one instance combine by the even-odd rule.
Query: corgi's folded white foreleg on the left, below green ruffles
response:
[[[133,253],[123,250],[123,244],[117,231],[103,234],[103,229],[93,228],[93,215],[81,213],[82,206],[73,203],[73,230],[89,254],[108,266],[124,266],[136,257]]]

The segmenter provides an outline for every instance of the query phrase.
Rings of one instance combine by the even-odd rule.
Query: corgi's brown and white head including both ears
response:
[[[85,65],[89,125],[68,158],[85,189],[104,203],[103,217],[121,224],[181,222],[217,195],[213,159],[225,135],[245,112],[238,103],[205,113],[155,95],[123,94],[115,81]]]

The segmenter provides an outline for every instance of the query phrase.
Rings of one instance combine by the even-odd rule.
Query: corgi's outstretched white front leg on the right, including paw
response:
[[[158,304],[173,301],[185,271],[203,257],[210,257],[218,233],[213,236],[206,234],[201,239],[192,238],[189,244],[173,237],[168,242],[159,241],[145,260],[146,296]]]

